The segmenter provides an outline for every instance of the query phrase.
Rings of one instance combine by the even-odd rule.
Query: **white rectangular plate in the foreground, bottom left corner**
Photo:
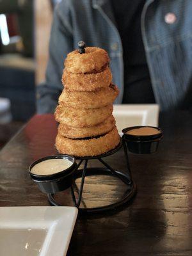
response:
[[[66,255],[76,218],[76,207],[0,207],[0,255]]]

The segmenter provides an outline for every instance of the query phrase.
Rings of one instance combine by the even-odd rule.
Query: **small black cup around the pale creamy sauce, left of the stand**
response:
[[[72,162],[72,165],[58,173],[54,173],[51,175],[37,175],[31,173],[31,169],[35,164],[38,164],[42,161],[48,159],[67,159],[68,161]],[[38,188],[43,193],[57,193],[69,188],[72,185],[72,179],[74,172],[76,171],[76,159],[75,157],[68,156],[68,155],[58,155],[58,156],[47,156],[41,159],[38,159],[33,164],[29,166],[29,173],[31,178],[36,182]]]

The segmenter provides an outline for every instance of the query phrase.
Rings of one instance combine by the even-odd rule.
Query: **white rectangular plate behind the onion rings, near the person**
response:
[[[159,106],[157,104],[116,104],[113,105],[116,127],[122,129],[136,125],[158,126]]]

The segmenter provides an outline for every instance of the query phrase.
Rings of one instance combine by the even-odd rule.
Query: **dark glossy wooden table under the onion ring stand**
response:
[[[130,154],[138,187],[132,204],[119,212],[79,216],[68,255],[192,255],[192,113],[162,114],[160,127],[164,140],[156,154]],[[56,153],[56,132],[52,115],[36,115],[1,150],[1,206],[49,205],[27,170],[35,159]],[[122,150],[106,161],[125,170]],[[88,206],[114,202],[125,189],[111,177],[85,182]],[[58,199],[72,205],[69,191]]]

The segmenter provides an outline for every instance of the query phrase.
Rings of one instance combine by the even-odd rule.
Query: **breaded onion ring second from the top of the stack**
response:
[[[94,91],[97,88],[108,87],[112,81],[110,68],[99,73],[73,74],[65,68],[63,71],[62,83],[70,91]]]

